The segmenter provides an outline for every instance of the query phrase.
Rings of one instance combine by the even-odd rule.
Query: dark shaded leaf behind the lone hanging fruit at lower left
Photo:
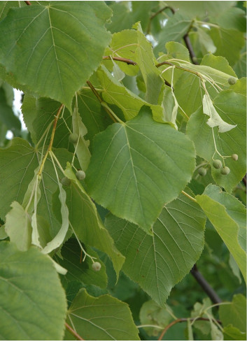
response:
[[[62,259],[55,257],[57,263],[68,270],[66,275],[62,278],[62,283],[71,282],[71,280],[78,280],[80,283],[85,285],[97,285],[101,288],[106,288],[107,277],[106,277],[106,267],[104,263],[101,262],[97,252],[90,248],[85,248],[87,253],[92,257],[96,257],[97,262],[100,262],[101,269],[99,271],[94,271],[92,269],[92,260],[86,257],[83,261],[84,254],[81,259],[81,249],[78,241],[75,238],[70,238],[62,246],[61,255]]]

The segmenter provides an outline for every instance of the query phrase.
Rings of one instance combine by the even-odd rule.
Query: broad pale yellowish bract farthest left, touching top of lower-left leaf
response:
[[[28,250],[31,245],[31,218],[16,201],[6,215],[5,231],[18,250]]]

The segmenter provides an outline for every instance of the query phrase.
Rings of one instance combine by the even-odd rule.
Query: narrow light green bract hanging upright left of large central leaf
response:
[[[84,136],[87,134],[87,128],[85,127],[85,124],[83,124],[83,120],[81,120],[78,108],[76,107],[73,109],[72,124],[73,133],[77,134],[79,137],[79,140],[73,145],[76,149],[76,155],[78,157],[80,167],[83,171],[86,171],[91,157],[90,151],[88,149],[90,141],[85,140],[84,138]]]

